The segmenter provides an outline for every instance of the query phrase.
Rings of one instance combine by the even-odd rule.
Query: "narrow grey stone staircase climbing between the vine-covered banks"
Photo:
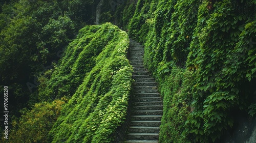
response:
[[[133,66],[133,111],[125,143],[157,143],[163,102],[157,82],[143,66],[144,48],[130,39],[130,63]]]

